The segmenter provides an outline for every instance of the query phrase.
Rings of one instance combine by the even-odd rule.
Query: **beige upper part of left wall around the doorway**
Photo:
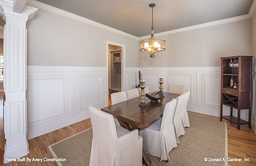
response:
[[[27,23],[28,65],[106,67],[106,41],[126,45],[126,67],[138,67],[138,41],[39,9]]]

